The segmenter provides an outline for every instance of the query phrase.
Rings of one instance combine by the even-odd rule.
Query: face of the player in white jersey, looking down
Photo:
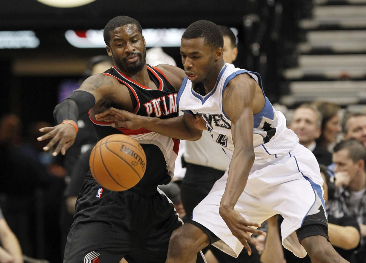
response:
[[[187,78],[193,83],[203,83],[211,78],[215,53],[211,46],[205,44],[203,38],[182,38],[180,55]]]

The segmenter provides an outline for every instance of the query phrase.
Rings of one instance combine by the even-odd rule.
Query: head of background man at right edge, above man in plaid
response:
[[[346,112],[342,119],[344,139],[355,138],[366,147],[366,113]]]

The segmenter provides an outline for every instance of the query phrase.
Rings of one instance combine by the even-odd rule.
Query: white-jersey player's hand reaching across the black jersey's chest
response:
[[[112,122],[111,126],[115,128],[139,129],[143,126],[143,117],[128,112],[127,110],[119,110],[109,108],[102,113],[95,115],[97,121]]]

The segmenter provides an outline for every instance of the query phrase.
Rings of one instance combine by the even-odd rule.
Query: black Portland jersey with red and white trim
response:
[[[147,65],[147,71],[158,90],[142,86],[118,71],[115,66],[103,74],[116,78],[128,88],[134,107],[133,113],[162,119],[178,116],[177,94],[172,84],[156,67]],[[113,128],[111,127],[112,123],[90,119],[96,129],[98,140],[110,134],[122,133],[131,136],[141,144],[146,154],[146,171],[137,187],[155,187],[159,184],[166,184],[171,180],[178,154],[179,140],[143,128],[138,130]]]

